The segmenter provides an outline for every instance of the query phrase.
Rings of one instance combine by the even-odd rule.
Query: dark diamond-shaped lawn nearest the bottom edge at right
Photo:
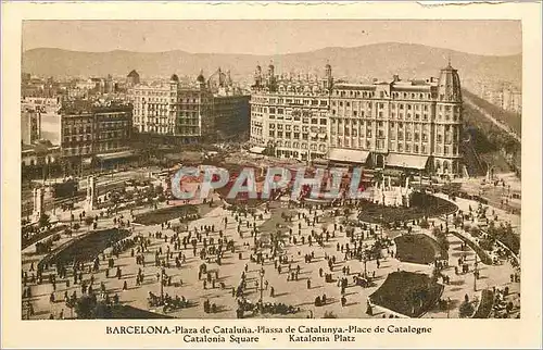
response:
[[[403,315],[420,317],[435,305],[442,292],[443,286],[428,275],[400,271],[389,274],[369,299]]]

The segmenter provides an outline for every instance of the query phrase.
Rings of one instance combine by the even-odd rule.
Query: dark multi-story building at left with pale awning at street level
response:
[[[108,167],[134,155],[132,107],[67,103],[61,110],[61,150],[68,168]]]

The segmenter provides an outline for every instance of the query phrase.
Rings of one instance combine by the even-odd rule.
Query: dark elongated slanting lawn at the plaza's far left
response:
[[[92,261],[104,249],[112,247],[128,236],[130,236],[128,230],[119,228],[93,230],[59,247],[56,251],[40,261],[40,264],[70,264],[74,260],[83,262]]]

